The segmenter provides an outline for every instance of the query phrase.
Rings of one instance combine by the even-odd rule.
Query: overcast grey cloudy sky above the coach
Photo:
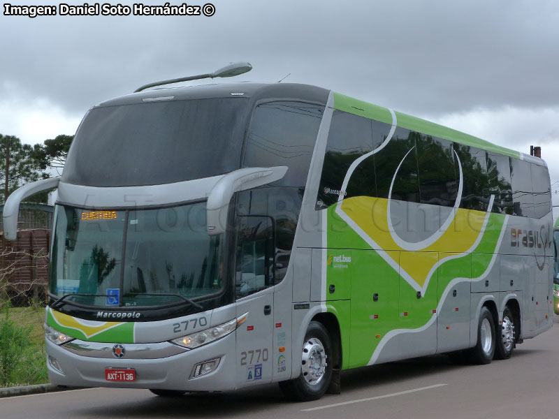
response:
[[[195,1],[189,4],[204,4]],[[246,60],[254,69],[238,81],[276,82],[291,73],[286,81],[521,152],[540,145],[559,191],[559,2],[212,3],[212,17],[0,15],[0,133],[31,144],[73,134],[95,103]]]

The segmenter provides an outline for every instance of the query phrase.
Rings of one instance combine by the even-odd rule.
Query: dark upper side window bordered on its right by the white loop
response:
[[[452,143],[417,134],[421,203],[452,207],[458,194]]]

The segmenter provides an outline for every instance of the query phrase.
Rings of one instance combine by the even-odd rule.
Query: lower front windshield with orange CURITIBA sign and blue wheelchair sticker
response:
[[[222,291],[223,237],[205,203],[157,210],[58,206],[50,293],[92,307],[165,306]]]

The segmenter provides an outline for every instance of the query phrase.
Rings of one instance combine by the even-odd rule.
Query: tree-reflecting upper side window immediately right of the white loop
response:
[[[462,200],[460,208],[487,211],[489,180],[486,151],[467,145],[454,145],[462,165]],[[458,175],[460,175],[458,173]]]

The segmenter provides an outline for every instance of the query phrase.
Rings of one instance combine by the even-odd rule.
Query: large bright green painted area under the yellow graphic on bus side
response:
[[[399,270],[372,250],[355,230],[335,214],[336,205],[327,210],[328,256],[343,253],[351,256],[352,264],[351,268],[344,270],[326,266],[326,288],[334,284],[336,293],[344,293],[342,298],[347,298],[347,294],[351,296],[350,300],[326,302],[328,311],[334,313],[340,323],[342,369],[367,365],[382,338],[391,330],[412,331],[426,325],[433,316],[432,310],[440,303],[439,291],[446,290],[453,279],[465,277],[465,281],[475,281],[488,272],[494,255],[499,252],[499,237],[506,219],[502,214],[489,214],[477,247],[471,253],[445,260],[428,279],[424,298],[418,300],[416,289],[400,277]],[[472,263],[473,254],[477,258],[475,264]],[[393,304],[375,307],[372,311],[374,293],[383,295]],[[328,297],[331,298],[330,295]],[[408,308],[407,320],[399,316],[401,305]],[[378,314],[377,321],[371,319],[371,314]]]

